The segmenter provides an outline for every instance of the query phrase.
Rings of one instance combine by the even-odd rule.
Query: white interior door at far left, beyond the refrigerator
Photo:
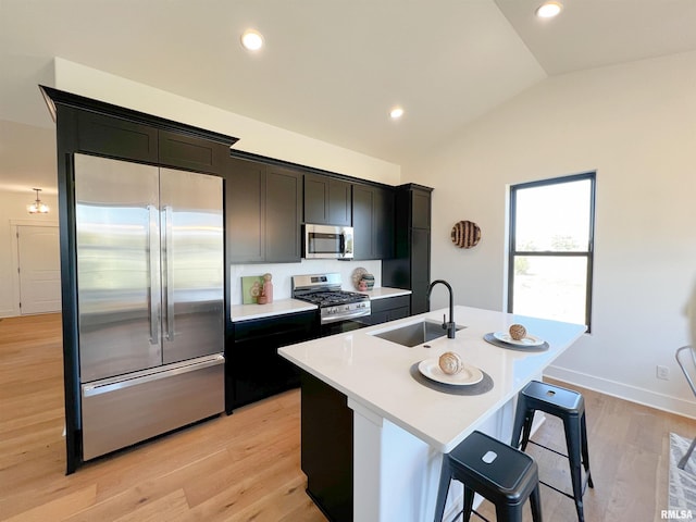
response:
[[[17,265],[21,314],[60,311],[58,226],[17,225]]]

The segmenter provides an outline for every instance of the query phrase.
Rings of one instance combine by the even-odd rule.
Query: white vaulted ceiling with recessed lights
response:
[[[401,164],[548,76],[696,49],[695,0],[561,1],[0,0],[0,186],[54,177],[25,156],[53,57]]]

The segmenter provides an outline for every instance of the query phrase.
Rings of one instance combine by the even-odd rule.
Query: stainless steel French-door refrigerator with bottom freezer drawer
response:
[[[89,460],[224,410],[222,179],[74,161]]]

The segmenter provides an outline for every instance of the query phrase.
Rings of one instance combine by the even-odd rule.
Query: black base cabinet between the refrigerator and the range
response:
[[[316,338],[316,325],[314,310],[233,323],[233,341],[225,352],[227,413],[299,386],[299,369],[277,349]]]

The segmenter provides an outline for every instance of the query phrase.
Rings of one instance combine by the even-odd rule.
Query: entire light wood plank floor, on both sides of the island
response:
[[[61,358],[60,315],[0,320],[0,520],[325,521],[304,493],[297,390],[66,476]],[[586,520],[660,520],[669,433],[693,437],[696,423],[581,391],[595,482]],[[562,449],[562,426],[549,419],[536,438]],[[535,457],[542,475],[570,485],[566,461]],[[542,496],[545,520],[576,520],[572,500],[544,486]]]

